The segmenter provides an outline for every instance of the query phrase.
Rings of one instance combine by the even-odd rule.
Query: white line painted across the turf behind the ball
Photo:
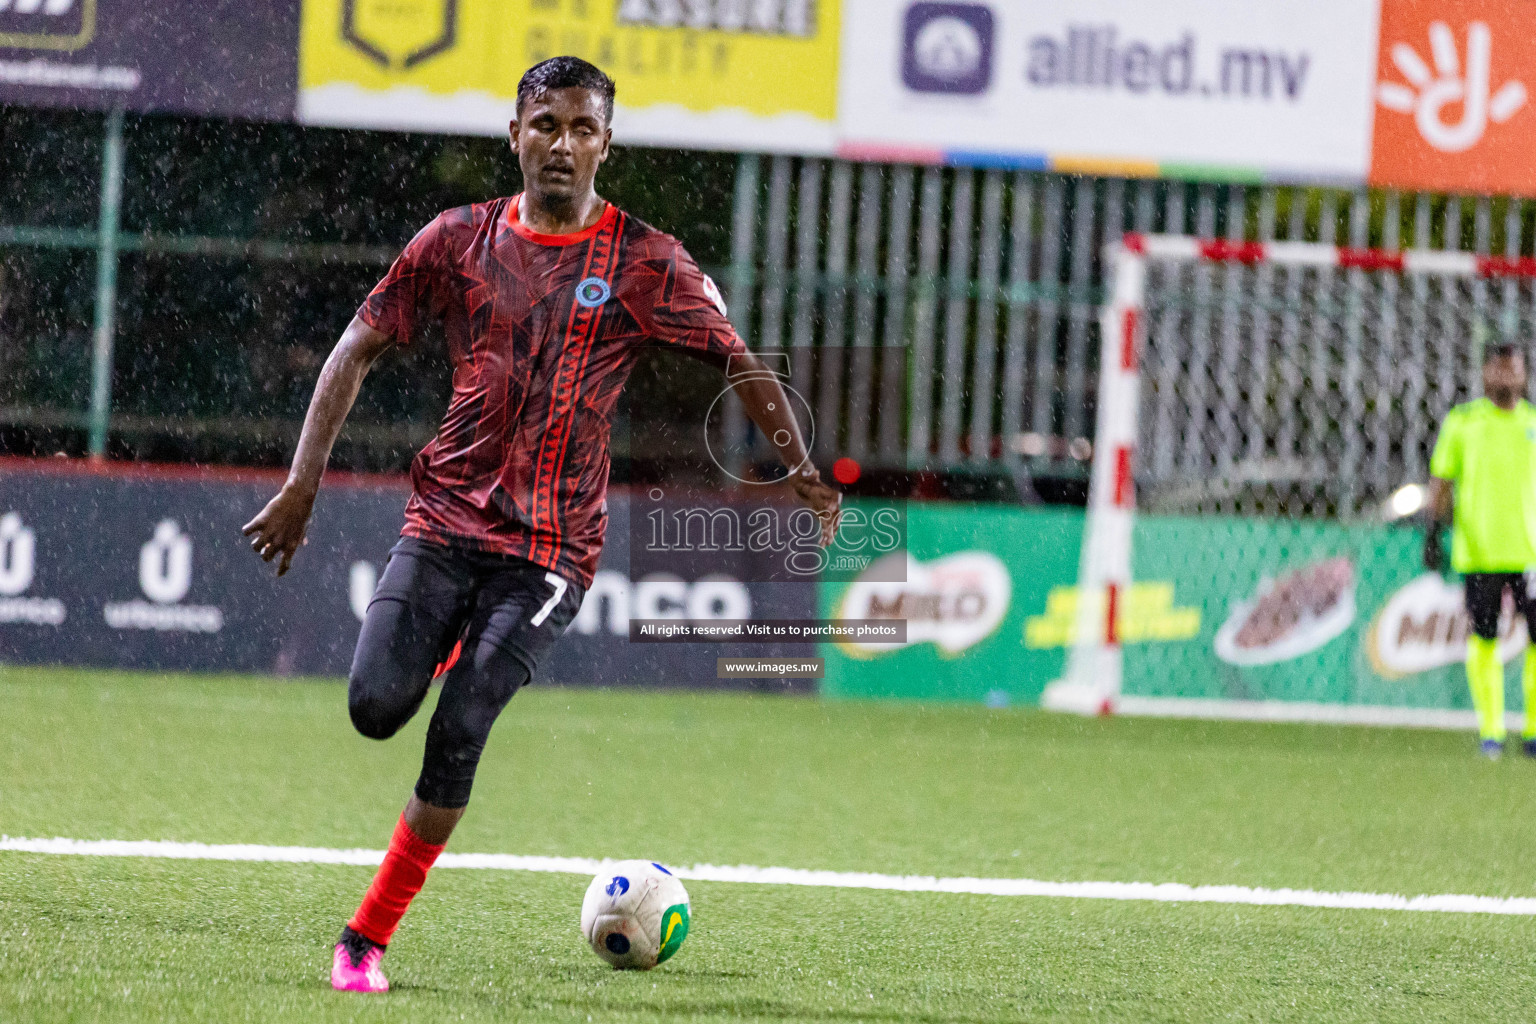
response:
[[[283,864],[378,864],[382,851],[315,846],[209,846],[154,840],[29,840],[0,835],[0,852],[75,857],[152,857],[166,860],[269,861]],[[594,875],[610,861],[585,857],[519,857],[516,854],[444,854],[438,867],[533,870]],[[1329,907],[1338,910],[1418,910],[1435,913],[1504,913],[1536,917],[1531,897],[1425,895],[1390,892],[1318,892],[1313,889],[1250,889],[1247,886],[1186,886],[1175,881],[1037,881],[1034,878],[934,878],[931,875],[876,875],[866,872],[803,870],[799,867],[674,867],[679,878],[740,881],[763,886],[817,886],[828,889],[883,889],[891,892],[962,892],[989,897],[1048,897],[1057,900],[1143,900],[1150,903],[1227,903],[1269,907]]]

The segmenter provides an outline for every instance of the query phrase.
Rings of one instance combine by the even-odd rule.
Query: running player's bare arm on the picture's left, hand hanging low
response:
[[[392,344],[393,336],[373,330],[358,318],[352,319],[319,370],[289,479],[276,497],[241,527],[241,533],[250,537],[252,551],[264,562],[278,559],[278,576],[287,573],[293,553],[304,543],[309,514],[315,508],[315,494],[319,493],[319,477],[326,473],[341,424],[358,401],[362,378]]]

